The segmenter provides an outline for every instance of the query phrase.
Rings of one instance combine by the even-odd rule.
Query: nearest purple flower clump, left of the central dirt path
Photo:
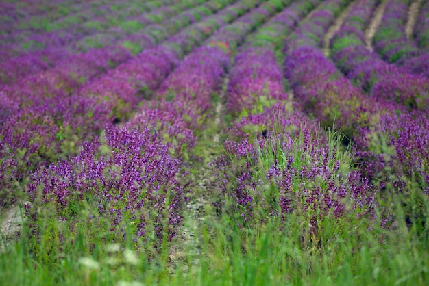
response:
[[[127,226],[135,237],[154,235],[156,244],[164,235],[174,237],[175,226],[182,221],[184,189],[177,181],[181,161],[170,155],[169,144],[154,127],[156,122],[163,124],[158,116],[165,114],[145,115],[138,124],[151,126],[108,127],[105,142],[88,142],[76,157],[34,172],[28,194],[35,203],[27,210],[29,215],[36,217],[38,203],[53,203],[58,218],[73,220],[86,202],[110,223],[117,239],[124,237]],[[177,132],[173,126],[171,131]]]

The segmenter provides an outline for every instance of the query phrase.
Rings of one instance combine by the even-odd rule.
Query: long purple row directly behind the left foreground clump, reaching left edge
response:
[[[232,21],[238,12],[247,10],[248,5],[251,4],[230,6],[182,31],[175,39],[183,39],[181,42],[186,47],[195,45],[198,42],[195,34],[198,33],[204,40],[210,35],[208,31],[217,29],[223,21]],[[3,197],[7,194],[14,196],[16,181],[25,179],[27,172],[40,164],[47,165],[75,153],[79,142],[99,133],[103,125],[112,123],[115,116],[124,118],[127,112],[135,109],[132,104],[141,99],[138,90],[150,92],[149,89],[155,88],[177,61],[177,55],[169,47],[169,42],[166,41],[162,47],[144,51],[140,57],[112,70],[106,77],[88,83],[79,94],[55,96],[40,106],[25,108],[5,121],[1,129],[1,168],[4,171],[1,172],[1,181],[5,184],[1,187],[5,192]],[[142,90],[143,87],[146,90]],[[23,156],[17,157],[21,153]]]

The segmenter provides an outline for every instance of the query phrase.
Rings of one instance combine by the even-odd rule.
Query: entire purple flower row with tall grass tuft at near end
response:
[[[289,31],[297,25],[315,1],[297,3],[284,10],[266,27],[278,28],[265,35],[268,42],[275,42],[281,31]],[[279,25],[282,23],[283,25]],[[323,233],[322,221],[341,222],[341,218],[354,215],[362,218],[371,215],[373,196],[371,184],[358,172],[340,172],[339,166],[350,165],[344,157],[334,155],[326,138],[318,137],[321,130],[304,114],[299,105],[284,94],[282,68],[275,57],[275,48],[249,46],[236,56],[231,71],[231,81],[236,86],[246,71],[252,79],[242,78],[247,84],[245,93],[235,109],[246,110],[259,105],[251,112],[241,112],[228,130],[224,144],[226,154],[219,157],[214,166],[218,170],[219,212],[226,212],[241,226],[260,223],[267,217],[280,217],[286,221],[292,213],[297,214],[310,226],[311,235]],[[249,71],[249,67],[253,68]],[[236,77],[236,78],[234,78]],[[265,90],[260,86],[277,87]],[[229,94],[230,96],[230,94]],[[255,98],[268,100],[262,104]],[[268,103],[268,104],[267,104]],[[319,178],[319,179],[317,179]],[[316,183],[315,183],[316,182]],[[225,207],[225,198],[232,203]]]

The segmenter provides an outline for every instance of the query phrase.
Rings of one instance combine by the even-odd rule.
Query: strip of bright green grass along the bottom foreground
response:
[[[297,216],[286,224],[271,220],[241,229],[232,218],[219,219],[210,209],[206,205],[206,220],[198,228],[198,265],[192,265],[193,255],[186,247],[182,258],[171,261],[168,247],[156,253],[142,245],[136,252],[127,242],[106,244],[100,236],[88,244],[88,236],[100,229],[86,225],[56,247],[21,236],[0,255],[2,285],[427,285],[429,281],[429,240],[401,222],[394,230],[380,226],[368,230],[358,220],[344,220],[349,231],[332,242],[314,244],[299,235],[306,226]],[[329,227],[327,222],[327,230],[334,231]],[[38,251],[29,252],[29,244],[37,245]]]

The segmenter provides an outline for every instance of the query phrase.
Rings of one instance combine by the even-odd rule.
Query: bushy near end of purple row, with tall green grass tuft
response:
[[[268,132],[256,133],[264,129]],[[323,220],[353,213],[371,216],[375,206],[372,185],[359,172],[340,170],[344,164],[329,151],[321,131],[293,105],[265,107],[234,123],[224,144],[225,155],[215,161],[221,198],[215,206],[239,225],[269,216],[287,220],[302,216],[312,234],[321,235]],[[225,196],[232,204],[225,207]]]

